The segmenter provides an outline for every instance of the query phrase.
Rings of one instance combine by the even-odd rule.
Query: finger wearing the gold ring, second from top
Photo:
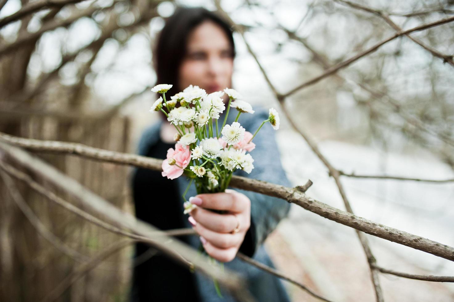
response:
[[[237,218],[232,214],[218,214],[204,208],[196,208],[189,213],[197,223],[217,233],[230,233],[237,227]],[[238,219],[241,219],[238,217]],[[242,225],[243,224],[243,225]],[[240,221],[240,231],[245,227]]]

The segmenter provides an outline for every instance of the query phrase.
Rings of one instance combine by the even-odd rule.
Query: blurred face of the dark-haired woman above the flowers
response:
[[[188,37],[186,56],[179,69],[182,91],[190,84],[207,93],[232,86],[233,56],[227,35],[214,22],[198,25]]]

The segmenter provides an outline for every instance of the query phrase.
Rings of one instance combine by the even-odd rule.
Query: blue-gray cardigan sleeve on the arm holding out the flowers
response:
[[[246,130],[252,134],[264,120],[268,119],[268,111],[258,109],[253,116],[254,118],[245,124]],[[252,158],[254,158],[252,172],[247,174],[242,170],[237,170],[234,174],[291,186],[281,165],[275,131],[271,124],[266,123],[263,125],[253,140],[256,144],[256,149],[250,152]],[[252,257],[268,234],[276,228],[279,221],[287,216],[290,210],[290,203],[280,198],[260,193],[236,190],[245,194],[251,200],[251,228],[246,233],[240,252]]]

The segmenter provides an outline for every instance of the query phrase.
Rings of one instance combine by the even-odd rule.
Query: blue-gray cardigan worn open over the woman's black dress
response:
[[[258,106],[256,106],[254,109],[256,110],[254,114],[242,114],[238,120],[238,122],[252,134],[260,126],[260,124],[262,124],[263,120],[268,118],[267,109],[263,109],[262,107]],[[224,119],[224,114],[226,113],[226,111],[227,110],[225,110],[219,118],[219,127],[221,127],[222,125],[221,123]],[[227,118],[227,124],[232,124],[237,115],[237,110],[235,108],[231,108],[230,111],[231,112]],[[161,125],[162,122],[153,124],[144,131],[138,146],[139,154],[144,155],[149,147],[158,140],[159,129]],[[291,186],[290,181],[287,179],[286,174],[281,166],[280,154],[275,139],[275,130],[272,129],[271,124],[266,123],[263,125],[262,129],[260,129],[256,137],[254,138],[254,143],[256,144],[256,149],[250,152],[252,158],[254,158],[254,169],[250,174],[247,174],[242,170],[237,170],[234,175],[241,175],[248,178],[255,178],[271,183]],[[177,178],[176,180],[181,196],[188,186],[189,181],[186,177],[184,177],[184,175]],[[254,231],[251,233],[252,235],[250,235],[248,238],[245,238],[245,240],[251,241],[247,243],[249,247],[247,254],[249,254],[248,256],[252,256],[255,260],[273,267],[273,264],[262,243],[265,241],[268,234],[276,228],[279,221],[282,218],[286,217],[290,209],[290,203],[287,203],[286,201],[279,198],[274,198],[246,190],[240,190],[236,188],[234,189],[245,194],[251,200],[251,223],[253,225],[252,229]],[[196,189],[195,186],[192,185],[191,188],[189,188],[188,193],[186,194],[186,198],[195,195]],[[175,213],[176,215],[183,215],[182,198],[180,202],[182,211],[180,213]],[[183,219],[183,221],[186,223],[186,227],[191,228],[188,219]],[[198,236],[191,236],[190,243],[192,247],[198,248],[200,245]],[[252,295],[257,299],[257,301],[262,302],[289,300],[285,289],[281,284],[281,281],[277,277],[274,277],[267,272],[263,272],[262,270],[259,270],[252,265],[245,264],[238,258],[233,259],[231,262],[225,262],[224,266],[245,277],[248,282],[247,287]],[[198,271],[196,271],[195,274],[198,291],[200,293],[202,301],[236,301],[232,296],[229,295],[227,290],[222,287],[221,292],[223,298],[219,298],[215,291],[212,279],[206,277]]]

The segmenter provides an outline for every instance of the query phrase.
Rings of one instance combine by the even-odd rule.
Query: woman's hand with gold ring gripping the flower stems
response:
[[[218,261],[232,261],[251,226],[251,200],[227,189],[225,193],[199,194],[189,201],[198,206],[189,213],[188,220],[200,235],[205,251]],[[228,213],[218,214],[205,208],[227,210]],[[238,232],[232,233],[238,223]]]

